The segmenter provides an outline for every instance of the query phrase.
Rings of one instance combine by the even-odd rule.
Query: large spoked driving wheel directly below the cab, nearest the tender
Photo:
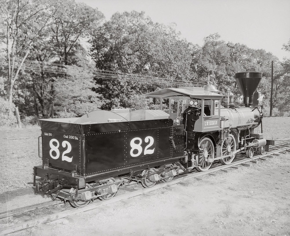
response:
[[[198,171],[206,171],[208,170],[212,162],[206,162],[205,158],[214,158],[215,157],[215,149],[213,142],[210,138],[202,138],[198,143],[198,147],[200,149],[201,155],[198,158],[198,166],[195,167]]]

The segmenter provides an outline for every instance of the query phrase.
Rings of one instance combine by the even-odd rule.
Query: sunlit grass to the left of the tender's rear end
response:
[[[28,188],[27,183],[33,180],[33,167],[42,164],[37,140],[40,127],[1,127],[0,133],[0,193]]]

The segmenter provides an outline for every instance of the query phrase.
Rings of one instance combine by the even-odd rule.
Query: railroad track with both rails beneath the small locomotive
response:
[[[110,200],[93,201],[89,205],[82,207],[82,208],[70,208],[69,210],[63,210],[61,212],[57,212],[57,213],[54,213],[51,215],[43,216],[43,217],[40,217],[37,219],[30,219],[30,220],[27,220],[27,221],[24,221],[21,223],[17,223],[17,224],[14,224],[13,226],[0,228],[0,235],[6,235],[9,233],[19,231],[19,230],[24,230],[24,229],[33,227],[33,226],[38,225],[38,224],[44,224],[44,223],[47,223],[50,221],[54,221],[57,219],[68,217],[70,215],[75,215],[75,214],[78,214],[81,212],[93,210],[96,208],[101,208],[101,207],[113,204],[115,202],[119,202],[119,201],[126,202],[127,199],[129,199],[131,197],[136,197],[138,195],[142,195],[142,194],[150,195],[150,192],[153,192],[153,191],[161,189],[161,188],[168,188],[174,184],[180,183],[183,185],[189,185],[189,182],[186,182],[186,180],[188,180],[188,179],[191,179],[194,177],[197,178],[197,177],[200,177],[200,176],[203,176],[206,174],[215,174],[215,172],[218,172],[218,171],[228,172],[228,170],[231,168],[238,169],[238,166],[240,166],[240,165],[250,166],[249,162],[257,163],[257,160],[264,161],[267,159],[267,157],[271,158],[271,157],[274,157],[273,155],[277,155],[279,153],[286,154],[287,151],[290,152],[290,140],[284,141],[282,143],[278,143],[276,145],[271,145],[269,147],[269,152],[267,152],[266,154],[253,156],[252,158],[244,158],[241,160],[237,160],[229,165],[218,165],[218,166],[213,167],[205,172],[192,172],[189,174],[184,174],[182,176],[178,176],[177,178],[175,177],[175,179],[172,180],[171,182],[159,183],[157,185],[154,185],[152,188],[142,188],[139,190],[135,190],[134,188],[128,188],[129,185],[125,185],[121,189],[124,190],[125,192],[126,191],[127,192],[124,194],[120,194],[119,196],[115,196]],[[134,183],[130,184],[130,185],[134,185]],[[23,212],[29,212],[32,210],[41,209],[41,208],[52,206],[52,205],[64,205],[64,203],[59,204],[56,201],[48,201],[45,203],[36,204],[36,205],[24,207],[24,208],[17,208],[17,209],[10,210],[7,212],[1,212],[0,219],[4,219],[6,217],[11,217],[11,216],[17,216],[19,214],[22,214]]]

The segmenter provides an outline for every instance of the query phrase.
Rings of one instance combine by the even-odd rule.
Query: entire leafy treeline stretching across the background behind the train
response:
[[[290,61],[281,63],[263,49],[226,43],[217,33],[205,37],[202,46],[194,45],[182,39],[175,25],[155,23],[144,12],[116,12],[105,21],[99,10],[73,0],[0,0],[0,14],[1,61],[5,61],[0,71],[0,102],[5,106],[0,114],[8,114],[14,105],[22,117],[73,116],[99,108],[154,108],[156,101],[143,94],[164,87],[146,80],[39,71],[21,64],[30,60],[180,82],[205,83],[210,74],[214,84],[236,95],[240,91],[234,73],[261,71],[265,111],[269,110],[273,60],[273,113],[290,111]],[[284,49],[290,51],[290,41]]]

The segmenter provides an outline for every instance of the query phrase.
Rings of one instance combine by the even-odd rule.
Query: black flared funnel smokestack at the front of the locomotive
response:
[[[235,73],[235,79],[244,96],[245,106],[249,107],[253,105],[253,94],[262,79],[262,73],[256,71],[239,72]]]

